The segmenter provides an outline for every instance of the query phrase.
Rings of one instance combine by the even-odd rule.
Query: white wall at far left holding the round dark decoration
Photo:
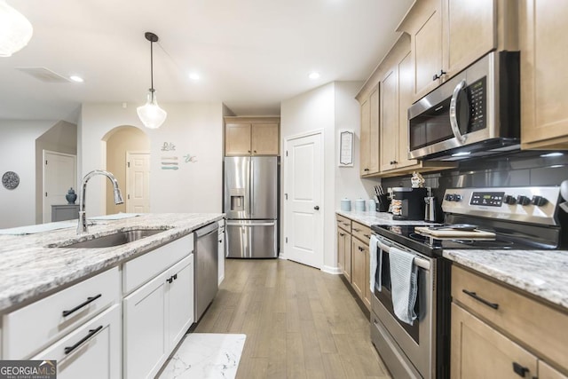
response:
[[[20,176],[20,186],[0,186],[0,228],[36,224],[36,138],[55,121],[0,120],[0,177]]]

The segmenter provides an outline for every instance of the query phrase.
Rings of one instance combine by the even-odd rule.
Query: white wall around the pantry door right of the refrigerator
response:
[[[359,82],[328,83],[295,98],[282,101],[280,105],[282,141],[313,130],[323,130],[324,133],[324,199],[320,208],[324,217],[322,270],[327,272],[337,272],[335,209],[339,208],[339,199],[343,196],[368,198],[365,186],[359,178],[359,167],[342,169],[337,167],[339,130],[353,130],[359,136],[359,104],[354,97],[360,86]],[[358,162],[358,145],[354,154],[355,162]],[[282,179],[282,187],[284,186]],[[283,217],[280,225],[283,230]],[[283,234],[282,237],[285,237]]]

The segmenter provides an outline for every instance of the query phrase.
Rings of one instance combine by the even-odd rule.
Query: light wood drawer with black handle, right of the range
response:
[[[568,314],[455,265],[452,297],[512,339],[568,367]]]

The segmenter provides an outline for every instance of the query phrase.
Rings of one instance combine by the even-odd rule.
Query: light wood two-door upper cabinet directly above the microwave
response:
[[[421,99],[493,49],[517,50],[516,0],[417,0],[398,26],[411,37]]]

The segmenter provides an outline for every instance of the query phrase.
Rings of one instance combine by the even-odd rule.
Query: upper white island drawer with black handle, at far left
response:
[[[4,315],[3,358],[28,359],[119,297],[120,275],[114,267]]]

